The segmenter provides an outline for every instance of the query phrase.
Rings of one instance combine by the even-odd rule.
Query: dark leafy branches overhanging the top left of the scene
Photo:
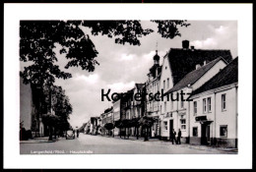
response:
[[[164,38],[180,36],[178,27],[188,27],[186,21],[152,21],[158,24],[158,32]],[[153,32],[143,29],[140,21],[21,21],[20,60],[32,62],[20,72],[25,84],[53,85],[55,78],[69,79],[70,73],[63,72],[55,64],[58,61],[54,48],[66,54],[69,62],[65,68],[81,67],[94,72],[98,52],[95,44],[82,28],[92,29],[93,35],[107,35],[115,43],[140,45],[140,37]]]

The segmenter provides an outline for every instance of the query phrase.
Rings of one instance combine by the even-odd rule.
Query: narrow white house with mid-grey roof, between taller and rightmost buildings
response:
[[[181,131],[183,143],[189,143],[189,99],[188,97],[193,90],[202,86],[211,78],[213,78],[220,70],[226,66],[226,62],[222,57],[204,64],[188,73],[182,80],[180,80],[175,86],[170,88],[166,92],[166,103],[170,106],[166,110],[166,114],[163,116],[163,128],[161,137],[169,138],[171,132],[177,133]],[[165,106],[166,108],[166,106]]]

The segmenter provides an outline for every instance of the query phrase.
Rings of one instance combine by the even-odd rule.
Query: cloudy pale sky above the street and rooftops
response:
[[[81,28],[96,45],[96,60],[99,65],[91,73],[81,68],[70,68],[68,72],[73,78],[56,80],[55,83],[62,86],[70,98],[73,106],[70,124],[73,128],[81,127],[90,117],[99,116],[106,108],[111,107],[111,102],[101,101],[101,89],[106,92],[110,88],[110,93],[113,93],[127,91],[136,83],[145,83],[157,48],[160,63],[169,48],[181,48],[181,42],[185,39],[196,49],[228,49],[233,58],[237,56],[236,21],[187,21],[191,25],[179,28],[181,36],[173,39],[162,38],[157,31],[157,24],[150,21],[141,23],[143,29],[154,29],[155,32],[142,37],[140,46],[115,44],[113,38],[93,36],[90,29]],[[57,54],[57,58],[60,68],[65,71],[65,55]]]

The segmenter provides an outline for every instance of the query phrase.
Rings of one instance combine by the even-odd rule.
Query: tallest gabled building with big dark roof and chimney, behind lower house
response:
[[[177,85],[188,73],[195,70],[195,66],[204,66],[219,57],[229,63],[232,60],[229,50],[195,49],[189,48],[189,41],[182,41],[182,48],[170,48],[163,57],[160,74],[160,92],[166,93],[170,88]],[[162,133],[169,125],[163,121],[170,117],[171,101],[167,96],[160,99],[160,135],[169,139],[169,133]],[[183,121],[184,122],[184,121]]]

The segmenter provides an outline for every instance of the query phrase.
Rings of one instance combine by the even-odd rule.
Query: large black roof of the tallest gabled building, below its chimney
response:
[[[167,58],[172,72],[173,85],[194,71],[197,64],[202,66],[204,61],[208,63],[218,57],[223,57],[227,63],[232,60],[229,50],[170,48]]]

